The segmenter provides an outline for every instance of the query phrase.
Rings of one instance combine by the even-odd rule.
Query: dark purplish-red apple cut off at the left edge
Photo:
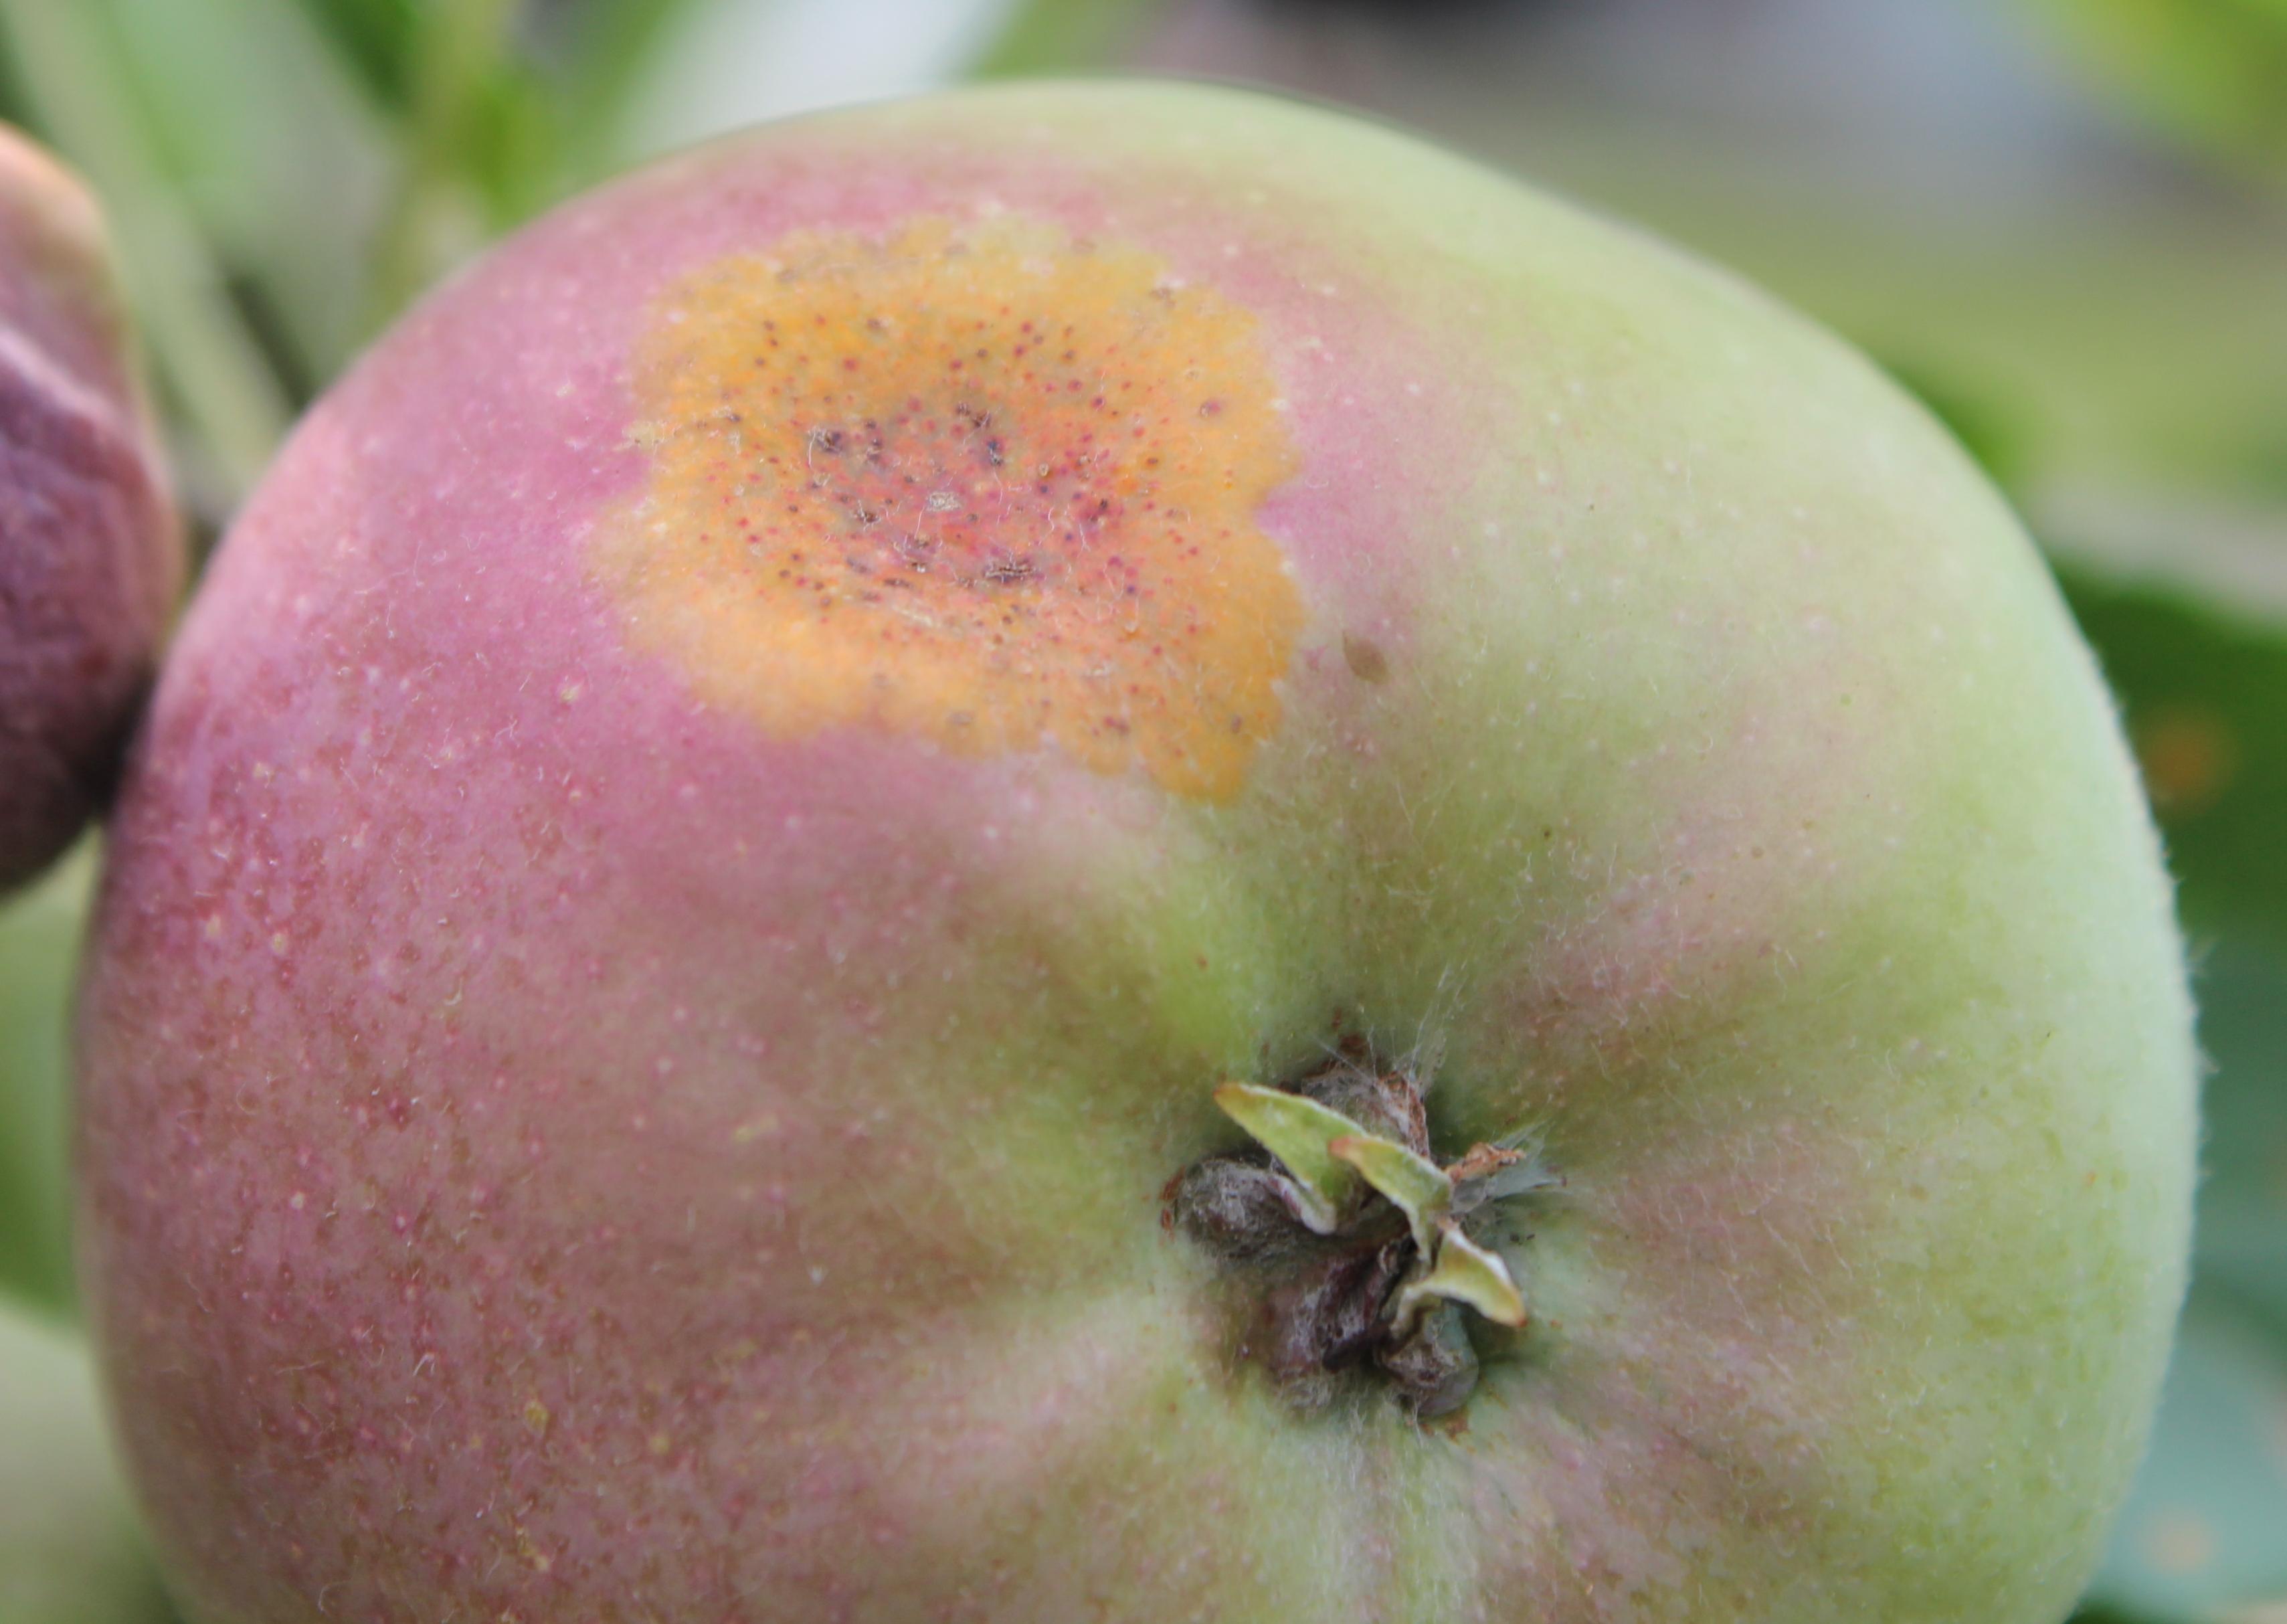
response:
[[[103,220],[0,126],[0,892],[107,796],[181,583]]]

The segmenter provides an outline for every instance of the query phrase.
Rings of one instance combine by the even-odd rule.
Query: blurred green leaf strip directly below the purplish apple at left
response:
[[[0,1301],[50,1311],[71,1301],[69,1009],[94,871],[87,842],[0,906]]]

